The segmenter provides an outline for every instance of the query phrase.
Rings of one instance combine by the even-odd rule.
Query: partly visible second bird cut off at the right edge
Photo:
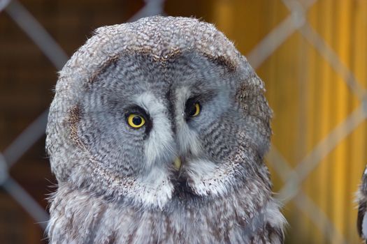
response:
[[[357,192],[358,216],[357,216],[357,230],[359,236],[366,242],[367,239],[367,167],[362,176],[362,183]]]

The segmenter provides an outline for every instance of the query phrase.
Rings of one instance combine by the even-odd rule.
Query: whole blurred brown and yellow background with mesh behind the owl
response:
[[[214,23],[264,80],[286,243],[359,243],[366,0],[0,0],[0,243],[46,243],[55,178],[44,130],[57,71],[96,27],[157,14]]]

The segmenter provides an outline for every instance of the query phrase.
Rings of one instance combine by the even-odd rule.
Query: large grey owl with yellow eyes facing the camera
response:
[[[59,73],[50,243],[282,243],[264,83],[213,24],[103,26]]]

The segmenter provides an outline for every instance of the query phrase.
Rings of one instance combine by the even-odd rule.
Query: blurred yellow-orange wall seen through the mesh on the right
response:
[[[213,2],[210,21],[240,52],[249,54],[288,15],[289,8],[282,1],[223,0]],[[319,49],[296,31],[257,68],[275,114],[273,145],[292,168],[358,109],[367,83],[366,0],[317,1],[306,13],[306,25],[321,38],[317,39]],[[343,75],[348,70],[359,82],[357,95]],[[326,156],[301,185],[321,212],[312,211],[300,195],[285,206],[287,243],[359,243],[354,192],[367,162],[367,124],[364,114],[357,115],[351,122],[356,126],[347,137],[339,142],[345,130],[337,130],[336,137],[325,144],[336,143],[335,148],[330,153],[326,148],[320,150]],[[278,191],[284,182],[272,167],[277,158],[271,155],[268,165]],[[305,206],[300,208],[300,204]],[[334,230],[328,232],[326,223],[317,221],[320,213],[329,218]]]

